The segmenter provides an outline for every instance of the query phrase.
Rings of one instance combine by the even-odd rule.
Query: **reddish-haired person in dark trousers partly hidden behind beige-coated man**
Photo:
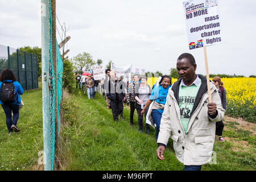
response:
[[[216,86],[218,94],[221,98],[221,105],[223,109],[226,110],[226,89],[223,87],[223,82],[221,81],[221,78],[216,76],[212,78],[213,84]],[[218,140],[220,142],[225,142],[225,140],[222,138],[222,131],[224,129],[224,123],[223,121],[216,122],[216,132],[215,134],[218,136]]]

